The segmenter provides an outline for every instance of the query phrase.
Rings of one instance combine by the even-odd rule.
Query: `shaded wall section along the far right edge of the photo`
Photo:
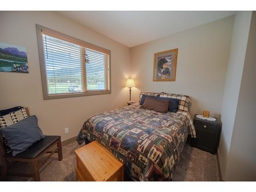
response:
[[[240,63],[244,63],[244,67],[240,71],[242,80],[224,175],[227,181],[256,181],[256,12],[244,14],[247,17],[243,23],[249,23],[249,36],[247,34],[247,48],[243,50],[245,58]]]

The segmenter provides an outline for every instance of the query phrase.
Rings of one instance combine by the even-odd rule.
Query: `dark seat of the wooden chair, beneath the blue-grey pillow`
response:
[[[26,151],[17,154],[16,158],[25,158],[25,159],[34,159],[43,151],[45,151],[49,146],[51,146],[55,141],[57,141],[60,136],[46,136],[44,139],[41,139],[31,145]],[[10,153],[7,157],[13,157]]]

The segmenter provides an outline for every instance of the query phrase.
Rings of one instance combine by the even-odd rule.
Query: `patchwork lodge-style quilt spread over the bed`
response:
[[[172,180],[188,134],[196,137],[188,112],[165,114],[135,103],[93,115],[84,122],[77,141],[97,140],[124,164],[136,181]]]

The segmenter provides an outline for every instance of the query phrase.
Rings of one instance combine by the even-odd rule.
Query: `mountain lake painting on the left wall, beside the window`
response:
[[[28,73],[26,48],[0,42],[0,72]]]

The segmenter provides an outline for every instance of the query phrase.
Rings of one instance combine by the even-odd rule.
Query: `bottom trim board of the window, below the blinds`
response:
[[[89,92],[81,92],[81,93],[44,95],[44,100],[70,98],[70,97],[82,97],[82,96],[91,96],[91,95],[105,95],[105,94],[111,94],[111,91],[89,91]]]

